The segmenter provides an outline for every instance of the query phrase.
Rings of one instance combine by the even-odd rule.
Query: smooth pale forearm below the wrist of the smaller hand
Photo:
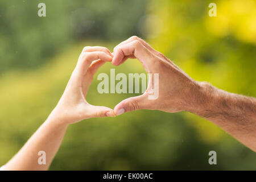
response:
[[[68,125],[50,117],[22,149],[6,164],[5,170],[47,170],[57,153]],[[39,164],[39,151],[46,152],[46,164]]]

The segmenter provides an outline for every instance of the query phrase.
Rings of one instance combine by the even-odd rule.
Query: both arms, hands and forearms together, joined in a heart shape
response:
[[[141,61],[146,72],[159,74],[158,98],[148,99],[151,89],[148,86],[141,96],[121,101],[114,110],[90,105],[85,97],[97,69],[107,61],[112,61],[113,65],[118,66],[128,58]],[[245,146],[256,151],[255,98],[228,93],[207,82],[193,80],[144,40],[132,36],[118,44],[113,53],[104,47],[83,49],[59,103],[4,169],[47,170],[69,125],[83,119],[114,117],[138,109],[162,110],[168,113],[189,111],[215,123]],[[39,151],[46,152],[45,165],[38,164]]]

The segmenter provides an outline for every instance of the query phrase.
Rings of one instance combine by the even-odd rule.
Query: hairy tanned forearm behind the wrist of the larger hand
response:
[[[256,99],[201,82],[188,111],[212,121],[247,147],[256,151]]]

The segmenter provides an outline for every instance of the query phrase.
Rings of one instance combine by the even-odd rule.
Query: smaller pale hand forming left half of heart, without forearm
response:
[[[49,118],[71,124],[94,117],[114,117],[114,111],[109,107],[93,106],[85,100],[94,73],[106,61],[112,61],[112,57],[105,47],[85,47],[63,96]]]

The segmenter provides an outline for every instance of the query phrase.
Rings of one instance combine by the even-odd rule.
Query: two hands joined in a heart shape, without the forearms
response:
[[[149,86],[141,96],[121,101],[113,109],[90,105],[85,97],[93,75],[105,62],[120,65],[128,58],[141,61],[147,73],[159,74],[159,96],[148,99]],[[154,81],[152,81],[154,82]],[[151,84],[154,85],[154,84]],[[162,53],[155,51],[137,36],[125,40],[111,53],[105,47],[85,47],[76,68],[68,82],[59,103],[51,113],[64,123],[76,123],[93,117],[114,117],[127,111],[138,109],[162,110],[170,113],[189,110],[192,105],[192,90],[200,90],[199,84],[181,71]]]

